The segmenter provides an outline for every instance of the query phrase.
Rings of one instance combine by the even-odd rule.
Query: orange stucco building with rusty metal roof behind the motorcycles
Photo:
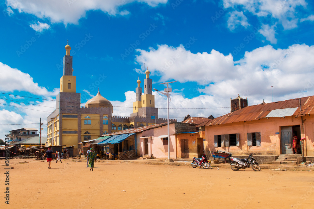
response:
[[[242,107],[198,126],[209,155],[217,150],[233,155],[294,154],[295,133],[297,154],[314,156],[314,96]]]

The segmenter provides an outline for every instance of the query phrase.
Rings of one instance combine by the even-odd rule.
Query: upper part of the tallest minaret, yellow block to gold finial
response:
[[[64,47],[66,53],[63,57],[63,76],[60,78],[60,92],[76,93],[76,76],[72,75],[72,59],[70,55],[71,46],[68,44]]]

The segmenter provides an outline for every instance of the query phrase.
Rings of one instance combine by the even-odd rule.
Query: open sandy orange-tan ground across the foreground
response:
[[[24,162],[24,163],[20,163]],[[28,163],[25,163],[28,162]],[[0,208],[313,208],[314,172],[11,159]],[[291,207],[293,206],[293,207]]]

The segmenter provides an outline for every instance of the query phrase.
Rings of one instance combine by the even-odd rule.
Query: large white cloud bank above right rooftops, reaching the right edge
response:
[[[136,60],[149,66],[152,73],[160,75],[161,82],[176,80],[200,84],[187,83],[186,88],[193,86],[199,92],[212,95],[197,97],[198,102],[209,101],[208,107],[229,107],[229,98],[238,94],[248,97],[250,105],[262,103],[263,99],[271,102],[271,86],[274,86],[273,101],[314,95],[314,46],[294,44],[287,49],[276,50],[267,45],[246,52],[239,61],[215,50],[210,54],[193,54],[182,46],[161,45],[157,50],[138,51],[141,54]],[[165,63],[169,63],[176,54],[180,57],[165,70]],[[188,99],[178,101],[178,104],[192,102]]]

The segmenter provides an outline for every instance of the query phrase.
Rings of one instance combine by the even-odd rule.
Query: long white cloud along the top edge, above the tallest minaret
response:
[[[6,4],[14,9],[18,9],[20,13],[33,14],[38,18],[49,18],[52,23],[78,24],[78,20],[85,17],[86,12],[89,10],[101,10],[113,16],[117,14],[127,15],[128,12],[123,10],[123,6],[133,2],[143,2],[151,7],[155,7],[160,3],[167,3],[167,0],[7,0]]]

